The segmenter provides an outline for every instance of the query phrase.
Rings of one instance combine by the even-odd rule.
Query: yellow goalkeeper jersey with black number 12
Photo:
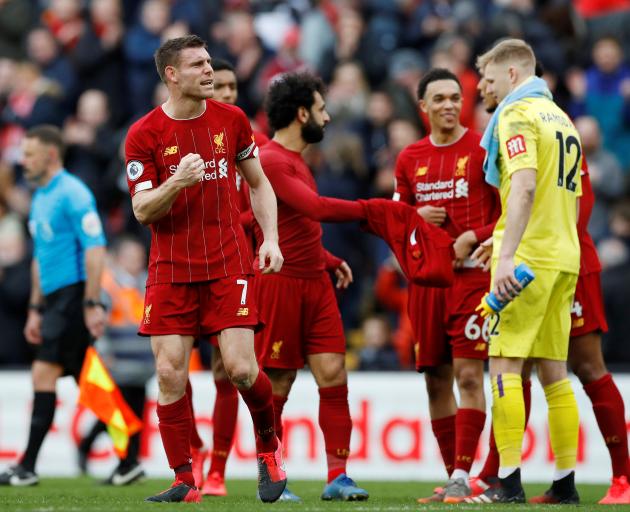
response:
[[[534,268],[572,274],[580,270],[576,215],[582,193],[582,149],[573,123],[553,101],[525,98],[499,116],[501,217],[494,230],[494,258],[505,231],[512,175],[536,170],[536,195],[516,259]]]

